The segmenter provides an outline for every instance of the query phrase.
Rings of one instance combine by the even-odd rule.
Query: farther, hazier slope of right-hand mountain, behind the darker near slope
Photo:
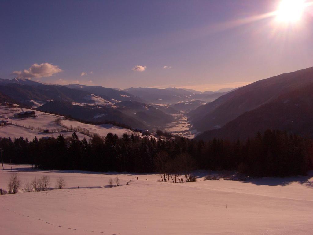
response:
[[[189,112],[189,120],[198,130],[220,128],[283,93],[310,85],[312,78],[313,67],[254,82]]]

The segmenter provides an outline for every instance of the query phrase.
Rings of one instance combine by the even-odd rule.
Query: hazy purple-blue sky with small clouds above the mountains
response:
[[[313,66],[313,6],[279,3],[1,0],[0,78],[204,91]]]

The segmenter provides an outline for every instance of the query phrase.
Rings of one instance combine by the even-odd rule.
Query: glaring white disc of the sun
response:
[[[277,10],[277,20],[294,23],[301,19],[305,9],[305,0],[283,0]]]

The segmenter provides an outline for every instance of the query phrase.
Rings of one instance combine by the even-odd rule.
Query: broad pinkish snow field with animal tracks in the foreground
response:
[[[0,188],[9,167],[0,170]],[[313,234],[308,177],[175,184],[119,174],[123,185],[107,188],[115,173],[13,171],[23,180],[48,175],[51,186],[64,176],[67,189],[0,196],[1,234]]]

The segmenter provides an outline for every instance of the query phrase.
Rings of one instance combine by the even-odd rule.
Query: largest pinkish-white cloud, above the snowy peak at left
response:
[[[33,64],[28,70],[23,71],[13,71],[12,74],[17,75],[19,78],[41,78],[41,77],[51,77],[52,75],[62,72],[58,65],[52,65],[49,63],[43,64]]]

